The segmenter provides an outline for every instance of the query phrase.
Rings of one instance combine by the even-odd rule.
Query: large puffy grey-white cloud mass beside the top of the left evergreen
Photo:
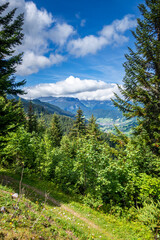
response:
[[[7,0],[2,0],[2,3]],[[64,57],[53,51],[50,43],[58,46],[65,44],[74,33],[71,25],[59,22],[46,9],[38,9],[32,1],[9,0],[9,8],[18,8],[17,15],[24,13],[23,44],[16,48],[17,52],[24,52],[22,65],[17,67],[17,75],[25,76],[38,72],[64,61]],[[55,49],[55,48],[54,48]]]

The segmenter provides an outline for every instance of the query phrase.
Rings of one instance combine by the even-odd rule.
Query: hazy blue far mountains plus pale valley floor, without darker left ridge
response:
[[[122,132],[130,134],[131,128],[136,125],[136,119],[127,120],[110,100],[79,100],[69,97],[41,97],[39,100],[46,104],[56,105],[72,114],[76,114],[78,108],[81,108],[87,119],[92,114],[94,115],[103,132],[114,132],[114,126],[116,125]],[[34,101],[38,100],[35,99]]]

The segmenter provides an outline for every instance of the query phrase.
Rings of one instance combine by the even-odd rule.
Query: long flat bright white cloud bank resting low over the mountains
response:
[[[118,92],[116,84],[107,84],[97,80],[81,80],[73,76],[57,83],[39,84],[26,88],[25,98],[38,97],[76,97],[83,100],[107,100]]]

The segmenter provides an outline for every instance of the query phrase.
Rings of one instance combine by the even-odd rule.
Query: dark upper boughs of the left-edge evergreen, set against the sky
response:
[[[5,14],[9,3],[0,5],[0,95],[24,93],[25,80],[16,82],[14,73],[22,62],[22,53],[15,55],[15,46],[22,43],[23,14],[15,17],[16,8]]]

